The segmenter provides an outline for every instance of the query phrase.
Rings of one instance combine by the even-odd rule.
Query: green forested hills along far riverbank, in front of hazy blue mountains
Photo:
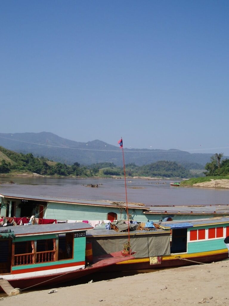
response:
[[[16,153],[0,146],[0,174],[36,173],[48,176],[73,177],[111,177],[123,176],[122,166],[111,162],[101,162],[88,166],[81,166],[78,162],[66,165],[53,162],[44,157],[35,157],[32,153]],[[191,177],[192,174],[176,162],[158,161],[149,165],[137,166],[134,163],[126,165],[127,176],[147,177]]]

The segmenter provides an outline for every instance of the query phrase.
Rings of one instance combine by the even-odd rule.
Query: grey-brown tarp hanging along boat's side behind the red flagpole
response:
[[[88,241],[92,242],[92,251],[94,256],[109,254],[123,250],[123,244],[127,242],[127,237],[95,237]],[[170,236],[169,234],[154,235],[136,235],[130,237],[132,252],[136,258],[153,257],[170,254]]]

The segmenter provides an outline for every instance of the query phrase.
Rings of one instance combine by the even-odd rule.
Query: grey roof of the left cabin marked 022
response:
[[[35,225],[15,225],[2,227],[1,230],[11,230],[16,237],[33,236],[51,233],[69,233],[82,230],[93,230],[93,226],[84,222],[57,223],[57,224],[35,224]]]

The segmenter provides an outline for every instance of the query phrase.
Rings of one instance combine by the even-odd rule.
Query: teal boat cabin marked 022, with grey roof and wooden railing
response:
[[[87,223],[1,227],[0,278],[45,278],[84,268],[90,229]]]

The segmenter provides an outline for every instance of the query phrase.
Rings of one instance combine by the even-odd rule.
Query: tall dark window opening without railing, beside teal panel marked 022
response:
[[[60,234],[58,239],[58,260],[73,258],[73,233]]]

